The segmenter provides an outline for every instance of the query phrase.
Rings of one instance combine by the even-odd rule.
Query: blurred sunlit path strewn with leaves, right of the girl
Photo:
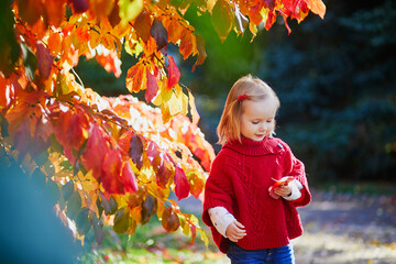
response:
[[[298,209],[305,232],[293,241],[296,263],[396,264],[395,195],[312,190],[312,202]],[[200,216],[199,201],[187,199],[179,205]],[[229,263],[227,257],[223,261]]]

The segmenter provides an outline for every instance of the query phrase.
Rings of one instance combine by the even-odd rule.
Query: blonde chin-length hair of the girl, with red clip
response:
[[[240,98],[239,100],[240,96],[244,96],[242,97],[243,99]],[[224,145],[227,141],[231,140],[239,140],[241,142],[240,125],[243,101],[260,101],[268,96],[274,98],[277,110],[280,106],[279,99],[266,82],[252,75],[246,75],[238,79],[227,97],[226,106],[217,128],[217,134],[219,136],[218,144]],[[274,130],[271,131],[270,134],[274,134]]]

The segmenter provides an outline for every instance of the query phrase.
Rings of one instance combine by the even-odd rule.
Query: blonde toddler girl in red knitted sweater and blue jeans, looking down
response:
[[[221,151],[205,187],[204,222],[231,263],[295,263],[296,210],[311,196],[304,164],[277,138],[279,100],[251,75],[231,88],[217,129]]]

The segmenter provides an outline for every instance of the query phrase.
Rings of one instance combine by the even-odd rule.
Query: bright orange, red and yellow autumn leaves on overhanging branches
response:
[[[197,127],[190,90],[180,80],[169,43],[193,70],[206,59],[205,40],[184,18],[190,7],[209,13],[221,41],[231,31],[257,33],[276,16],[321,18],[320,0],[145,1],[15,0],[1,2],[0,110],[3,155],[44,178],[59,217],[98,243],[103,224],[132,234],[157,215],[168,231],[207,242],[198,219],[180,200],[202,193],[213,148]],[[84,86],[74,67],[96,59],[116,77],[121,51],[138,62],[125,87],[144,91],[106,98]]]

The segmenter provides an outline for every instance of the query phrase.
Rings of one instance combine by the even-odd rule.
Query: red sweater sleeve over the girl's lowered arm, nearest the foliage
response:
[[[213,227],[208,210],[215,207],[223,207],[233,215],[232,186],[229,175],[230,166],[227,166],[227,157],[219,155],[215,158],[209,177],[205,185],[202,220],[208,227]]]

